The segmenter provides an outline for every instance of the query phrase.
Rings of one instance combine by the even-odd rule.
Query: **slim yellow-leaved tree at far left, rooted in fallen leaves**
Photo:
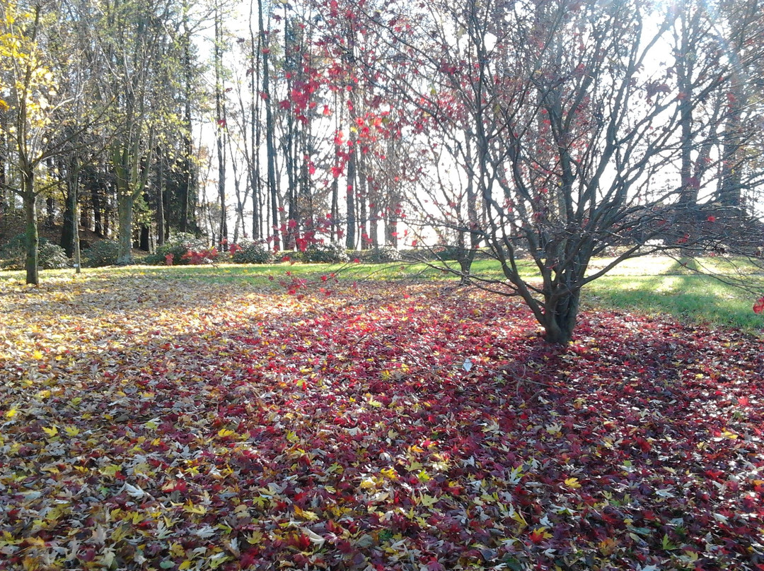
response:
[[[84,61],[77,60],[82,53],[70,41],[72,34],[66,34],[67,24],[60,11],[46,12],[41,4],[24,8],[7,3],[0,8],[0,74],[7,86],[0,99],[6,141],[3,162],[8,160],[18,172],[18,186],[5,180],[3,184],[21,197],[26,281],[34,285],[39,283],[37,197],[57,184],[50,176],[40,180],[40,175],[50,173],[55,157],[78,153],[83,132],[99,116],[78,106],[89,79],[80,74],[79,81],[73,80],[76,62],[82,66]],[[64,72],[69,76],[62,78]],[[79,166],[70,164],[71,168]]]

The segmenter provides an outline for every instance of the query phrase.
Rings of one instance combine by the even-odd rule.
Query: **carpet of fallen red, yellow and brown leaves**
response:
[[[764,569],[736,331],[140,275],[0,315],[0,569]]]

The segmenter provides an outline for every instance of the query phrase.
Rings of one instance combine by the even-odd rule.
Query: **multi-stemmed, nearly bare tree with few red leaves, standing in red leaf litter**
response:
[[[406,99],[411,136],[465,134],[464,178],[485,221],[461,231],[499,261],[505,280],[491,287],[522,298],[545,339],[567,344],[581,289],[641,255],[681,196],[667,173],[682,95],[658,56],[669,15],[630,0],[442,0],[367,6],[359,18],[371,44],[397,49],[396,65],[367,73]]]

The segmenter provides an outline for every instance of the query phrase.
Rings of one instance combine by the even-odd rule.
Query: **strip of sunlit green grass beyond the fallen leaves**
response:
[[[604,267],[608,261],[593,260],[590,272]],[[455,263],[452,266],[458,268]],[[533,281],[533,263],[524,261],[520,267],[526,278]],[[695,270],[718,277],[733,276],[748,291],[713,276],[700,275]],[[159,281],[189,279],[221,286],[255,286],[274,290],[280,289],[279,282],[283,280],[297,278],[322,283],[322,276],[331,274],[343,282],[455,279],[441,269],[422,263],[129,266],[84,269],[83,274],[75,279],[108,279],[115,273],[147,276]],[[501,279],[500,269],[494,260],[476,261],[473,273]],[[3,272],[0,279],[15,279],[23,283],[24,273]],[[40,273],[40,279],[43,283],[47,280],[73,279],[73,272],[70,269],[44,270]],[[764,275],[746,260],[707,258],[682,265],[667,256],[649,256],[627,260],[606,276],[591,282],[584,289],[581,302],[583,308],[589,311],[614,309],[665,314],[682,323],[741,327],[760,334],[764,331],[764,316],[753,313],[753,302],[759,295],[764,295]]]

